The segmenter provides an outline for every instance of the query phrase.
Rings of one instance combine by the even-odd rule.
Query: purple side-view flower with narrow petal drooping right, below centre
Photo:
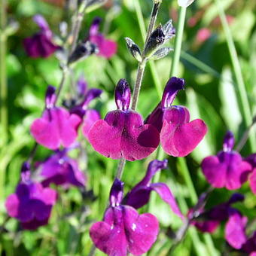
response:
[[[183,215],[181,215],[180,210],[178,209],[178,205],[175,202],[175,197],[173,197],[171,190],[169,190],[169,187],[166,186],[164,183],[151,183],[151,178],[159,172],[161,169],[167,168],[167,160],[153,160],[148,165],[148,171],[145,175],[145,177],[140,181],[138,184],[136,184],[135,187],[126,195],[123,202],[126,205],[132,206],[135,209],[139,209],[142,206],[145,206],[145,204],[148,203],[151,191],[154,190],[157,192],[157,194],[160,195],[163,201],[169,204],[172,211],[178,215],[180,218],[184,218]]]

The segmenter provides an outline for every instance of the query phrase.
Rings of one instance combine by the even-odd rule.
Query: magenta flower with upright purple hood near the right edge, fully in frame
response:
[[[233,134],[227,132],[224,138],[223,151],[217,156],[206,157],[202,162],[203,174],[212,187],[226,187],[229,190],[242,186],[251,172],[251,165],[240,154],[233,151]]]

